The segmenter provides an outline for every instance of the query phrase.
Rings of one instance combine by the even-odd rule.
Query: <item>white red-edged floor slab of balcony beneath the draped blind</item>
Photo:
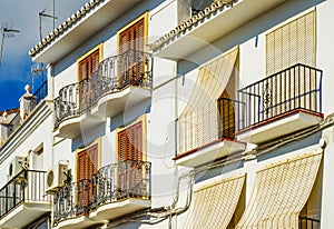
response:
[[[219,158],[244,151],[245,149],[246,145],[244,142],[222,139],[198,149],[180,153],[175,160],[178,166],[198,167],[204,163],[214,162]]]

